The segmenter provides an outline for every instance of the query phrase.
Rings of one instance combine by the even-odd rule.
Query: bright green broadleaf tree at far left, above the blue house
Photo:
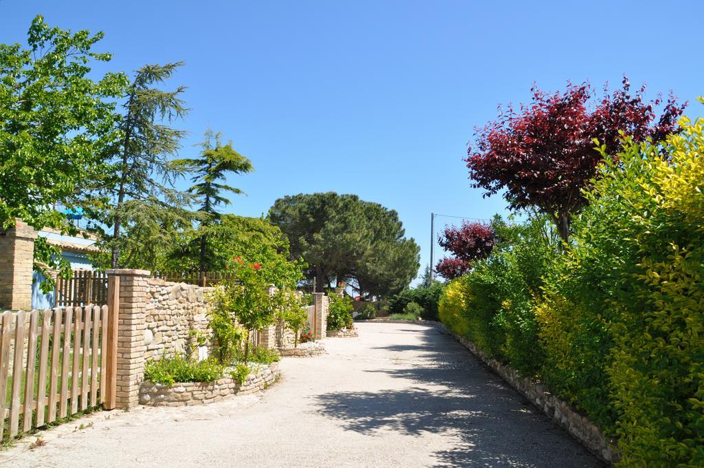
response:
[[[28,49],[0,44],[0,230],[21,218],[75,235],[56,204],[87,204],[85,194],[103,185],[127,77],[92,78],[92,63],[111,59],[93,51],[102,32],[72,34],[37,16],[27,37]],[[37,239],[35,269],[56,267],[58,253]]]

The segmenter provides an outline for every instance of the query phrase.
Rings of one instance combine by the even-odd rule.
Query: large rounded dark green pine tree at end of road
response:
[[[398,214],[356,195],[334,192],[277,199],[272,223],[289,238],[291,254],[308,263],[306,277],[322,292],[348,280],[361,295],[394,294],[418,270],[420,247],[404,238]]]

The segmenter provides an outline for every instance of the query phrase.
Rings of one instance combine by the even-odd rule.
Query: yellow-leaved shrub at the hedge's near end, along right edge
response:
[[[624,278],[634,301],[615,303],[608,368],[624,466],[704,466],[704,121],[682,125],[667,158],[648,145],[620,155],[646,167],[622,191],[640,261]]]

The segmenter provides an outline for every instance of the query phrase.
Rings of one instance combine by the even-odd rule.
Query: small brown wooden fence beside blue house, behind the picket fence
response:
[[[108,302],[108,275],[101,271],[75,270],[70,278],[56,278],[55,307],[103,305]]]

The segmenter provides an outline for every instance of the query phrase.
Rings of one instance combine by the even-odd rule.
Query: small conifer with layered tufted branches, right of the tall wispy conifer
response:
[[[206,271],[208,265],[213,263],[215,252],[209,248],[208,237],[216,234],[210,228],[216,226],[220,220],[220,212],[217,208],[223,204],[230,204],[230,199],[223,194],[241,193],[239,188],[224,183],[227,175],[249,173],[254,170],[251,161],[234,150],[232,142],[222,144],[220,133],[208,130],[205,136],[206,140],[201,144],[203,152],[199,157],[175,161],[175,164],[194,174],[191,180],[196,184],[189,189],[189,192],[200,202],[199,211],[203,215],[199,233],[194,240],[201,272]],[[194,254],[190,249],[184,253]]]

